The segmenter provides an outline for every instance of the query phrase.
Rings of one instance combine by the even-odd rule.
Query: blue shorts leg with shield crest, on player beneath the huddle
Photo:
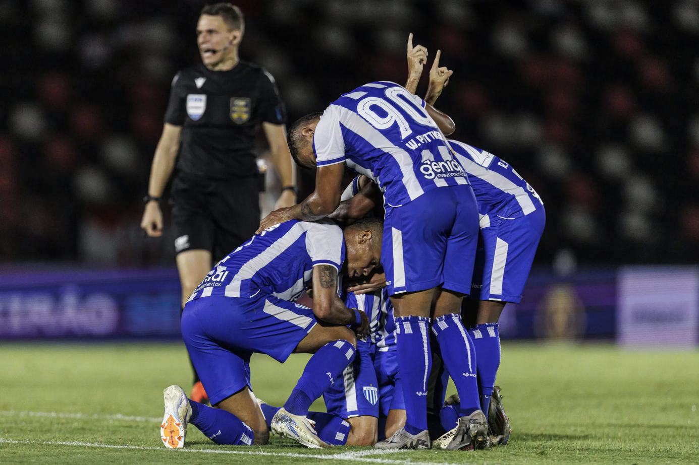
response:
[[[379,416],[379,384],[373,361],[374,345],[356,341],[354,362],[343,371],[323,394],[328,413],[340,418]]]

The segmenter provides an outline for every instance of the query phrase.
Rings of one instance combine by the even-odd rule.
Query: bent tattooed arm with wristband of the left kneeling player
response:
[[[366,313],[348,309],[338,297],[338,270],[332,265],[313,267],[313,313],[332,325],[354,325],[359,334],[367,334]]]

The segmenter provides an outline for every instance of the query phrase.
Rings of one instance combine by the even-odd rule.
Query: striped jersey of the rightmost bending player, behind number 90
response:
[[[468,173],[478,202],[481,228],[500,217],[525,216],[544,203],[538,193],[508,163],[497,156],[458,140],[449,140],[456,158]]]

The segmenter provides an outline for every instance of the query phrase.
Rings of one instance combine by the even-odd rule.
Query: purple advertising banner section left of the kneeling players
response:
[[[0,339],[180,337],[177,270],[0,274]]]

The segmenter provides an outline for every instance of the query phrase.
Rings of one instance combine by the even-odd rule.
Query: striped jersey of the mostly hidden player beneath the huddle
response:
[[[361,310],[369,317],[370,330],[366,338],[367,342],[376,344],[378,350],[396,344],[396,323],[394,323],[393,305],[391,305],[387,288],[360,295],[345,291],[343,297],[345,307]]]

